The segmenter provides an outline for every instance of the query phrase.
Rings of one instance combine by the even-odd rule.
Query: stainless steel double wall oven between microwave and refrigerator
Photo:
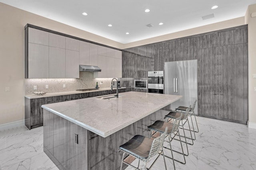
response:
[[[148,92],[164,94],[164,71],[148,72]]]

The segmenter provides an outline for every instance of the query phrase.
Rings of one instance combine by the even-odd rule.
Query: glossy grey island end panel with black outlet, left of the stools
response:
[[[44,109],[44,152],[60,170],[88,170],[88,130]]]

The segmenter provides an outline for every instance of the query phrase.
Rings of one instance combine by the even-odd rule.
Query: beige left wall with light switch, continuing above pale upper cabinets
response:
[[[0,3],[0,125],[24,120],[24,26],[52,29],[116,48],[122,44]],[[5,92],[10,87],[10,92]]]

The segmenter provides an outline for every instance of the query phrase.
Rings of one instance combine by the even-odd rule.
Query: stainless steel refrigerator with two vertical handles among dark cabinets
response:
[[[164,94],[183,96],[171,104],[171,109],[193,105],[197,100],[197,60],[165,62]],[[196,102],[195,114],[198,113],[197,108]]]

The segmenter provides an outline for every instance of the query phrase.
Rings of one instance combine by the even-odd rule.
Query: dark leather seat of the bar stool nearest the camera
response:
[[[142,159],[148,158],[153,139],[142,135],[135,135],[128,142],[120,146],[120,149]]]

